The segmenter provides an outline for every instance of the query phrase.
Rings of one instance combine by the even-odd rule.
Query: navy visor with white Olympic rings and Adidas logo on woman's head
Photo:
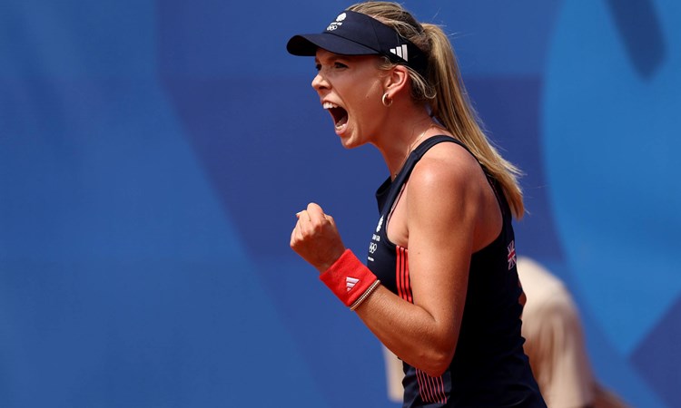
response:
[[[424,74],[428,58],[388,25],[362,13],[346,10],[321,34],[294,35],[286,44],[293,55],[313,56],[317,48],[342,55],[385,55],[391,62]]]

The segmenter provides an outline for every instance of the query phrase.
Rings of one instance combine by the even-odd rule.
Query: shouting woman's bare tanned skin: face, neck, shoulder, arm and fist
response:
[[[376,56],[321,49],[315,61],[320,70],[312,87],[322,104],[348,112],[347,123],[336,127],[343,146],[376,146],[390,174],[420,141],[450,135],[424,106],[412,102],[403,66],[386,72],[378,69]],[[385,92],[393,101],[389,108],[381,103]],[[434,146],[411,173],[387,227],[390,240],[409,249],[414,303],[378,287],[357,314],[395,355],[439,376],[456,349],[470,257],[498,237],[501,224],[497,199],[478,162],[454,143]],[[320,272],[345,250],[333,218],[315,203],[298,213],[291,248]]]

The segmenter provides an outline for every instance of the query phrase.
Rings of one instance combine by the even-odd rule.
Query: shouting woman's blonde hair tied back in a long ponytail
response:
[[[436,24],[419,22],[401,5],[391,2],[366,2],[350,5],[348,10],[379,20],[392,27],[428,55],[425,75],[410,69],[411,97],[428,104],[430,115],[469,148],[489,175],[498,180],[516,219],[525,206],[518,184],[522,172],[505,160],[482,130],[477,112],[470,104],[459,65],[449,38]],[[393,66],[386,58],[385,68]]]

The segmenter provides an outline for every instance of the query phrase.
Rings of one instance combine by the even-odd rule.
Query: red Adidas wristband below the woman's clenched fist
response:
[[[320,279],[349,307],[377,280],[350,249],[346,249]]]

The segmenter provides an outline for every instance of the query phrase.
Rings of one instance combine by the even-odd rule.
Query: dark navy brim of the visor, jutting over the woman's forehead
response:
[[[370,55],[380,53],[365,45],[357,44],[347,38],[334,34],[301,34],[294,35],[286,44],[286,50],[292,55],[314,56],[317,49],[322,48],[331,53],[342,55]]]

